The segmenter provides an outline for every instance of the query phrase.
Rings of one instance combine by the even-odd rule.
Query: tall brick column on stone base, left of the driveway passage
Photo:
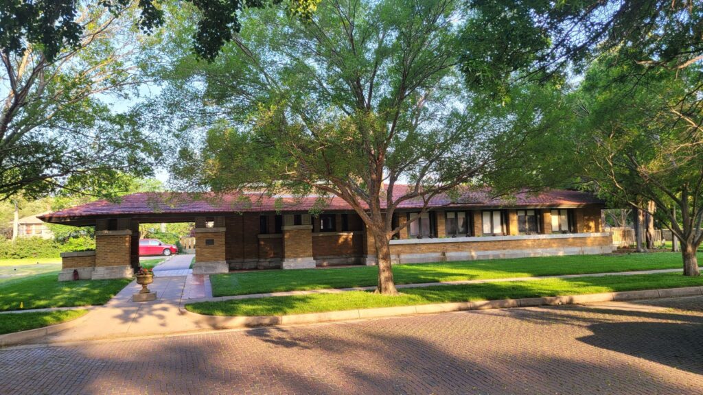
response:
[[[93,280],[105,278],[131,278],[132,231],[96,231],[95,233],[95,270]]]

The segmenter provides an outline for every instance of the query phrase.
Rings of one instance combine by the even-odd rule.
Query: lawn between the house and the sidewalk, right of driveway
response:
[[[703,254],[699,254],[699,259],[702,258]],[[444,264],[406,264],[393,266],[393,273],[396,284],[413,284],[652,270],[681,268],[682,266],[681,254],[657,252],[652,254],[491,259]],[[376,285],[378,281],[377,276],[378,268],[375,266],[359,266],[353,268],[251,271],[219,274],[210,276],[210,281],[212,283],[212,294],[218,297],[292,290],[370,287]]]

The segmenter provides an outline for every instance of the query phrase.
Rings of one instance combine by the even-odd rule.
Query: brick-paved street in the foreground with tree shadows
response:
[[[0,394],[703,394],[703,297],[0,350]]]

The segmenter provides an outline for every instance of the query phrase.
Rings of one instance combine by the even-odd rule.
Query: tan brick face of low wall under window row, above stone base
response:
[[[610,235],[588,238],[543,238],[475,242],[436,242],[391,245],[391,254],[424,254],[430,252],[528,250],[564,247],[600,247],[612,242]]]

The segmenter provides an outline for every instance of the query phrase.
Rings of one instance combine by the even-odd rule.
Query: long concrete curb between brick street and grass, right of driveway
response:
[[[451,311],[509,309],[513,307],[560,306],[564,304],[587,304],[596,302],[624,302],[637,299],[660,299],[666,297],[689,297],[703,295],[703,287],[667,288],[662,290],[638,290],[605,292],[602,294],[582,294],[556,297],[531,297],[522,299],[499,299],[477,302],[451,302],[439,304],[419,304],[417,306],[381,307],[378,309],[357,309],[345,311],[325,311],[323,313],[292,314],[289,316],[206,316],[193,313],[179,306],[183,315],[216,329],[255,328],[259,326],[294,325],[325,323],[366,318],[389,318],[414,316],[418,314],[448,313]]]

